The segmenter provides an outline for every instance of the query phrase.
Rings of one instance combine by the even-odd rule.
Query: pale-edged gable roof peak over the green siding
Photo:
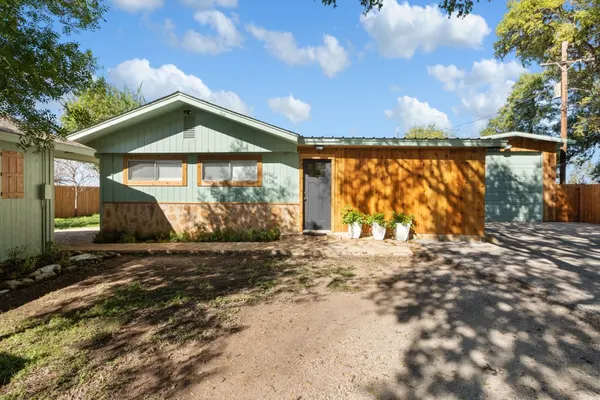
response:
[[[106,121],[102,121],[96,125],[90,126],[89,128],[74,132],[70,134],[68,138],[70,140],[76,140],[80,143],[89,143],[90,141],[99,137],[115,132],[117,129],[131,126],[148,118],[179,109],[182,105],[199,108],[203,111],[219,115],[293,143],[298,142],[299,135],[297,133],[268,124],[247,115],[237,113],[179,91],[144,104],[138,108],[134,108],[133,110],[127,111],[123,114],[109,118]]]

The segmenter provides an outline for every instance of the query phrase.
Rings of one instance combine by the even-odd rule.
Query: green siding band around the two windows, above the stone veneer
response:
[[[99,158],[102,202],[298,202],[297,153],[263,153],[262,187],[198,187],[195,154],[188,155],[187,186],[125,186],[123,154]]]

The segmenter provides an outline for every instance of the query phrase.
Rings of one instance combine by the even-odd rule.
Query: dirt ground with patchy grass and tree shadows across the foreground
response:
[[[524,282],[413,250],[122,257],[15,292],[1,300],[14,371],[0,396],[600,397],[598,326]]]

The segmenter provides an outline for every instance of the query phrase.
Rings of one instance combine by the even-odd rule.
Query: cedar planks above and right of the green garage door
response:
[[[527,138],[513,138],[509,140],[509,143],[513,146],[510,151],[542,152],[544,222],[556,221],[556,153],[558,144]]]

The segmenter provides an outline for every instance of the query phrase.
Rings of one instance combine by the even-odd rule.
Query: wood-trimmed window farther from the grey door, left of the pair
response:
[[[187,158],[178,156],[127,156],[123,184],[128,186],[187,186]]]

